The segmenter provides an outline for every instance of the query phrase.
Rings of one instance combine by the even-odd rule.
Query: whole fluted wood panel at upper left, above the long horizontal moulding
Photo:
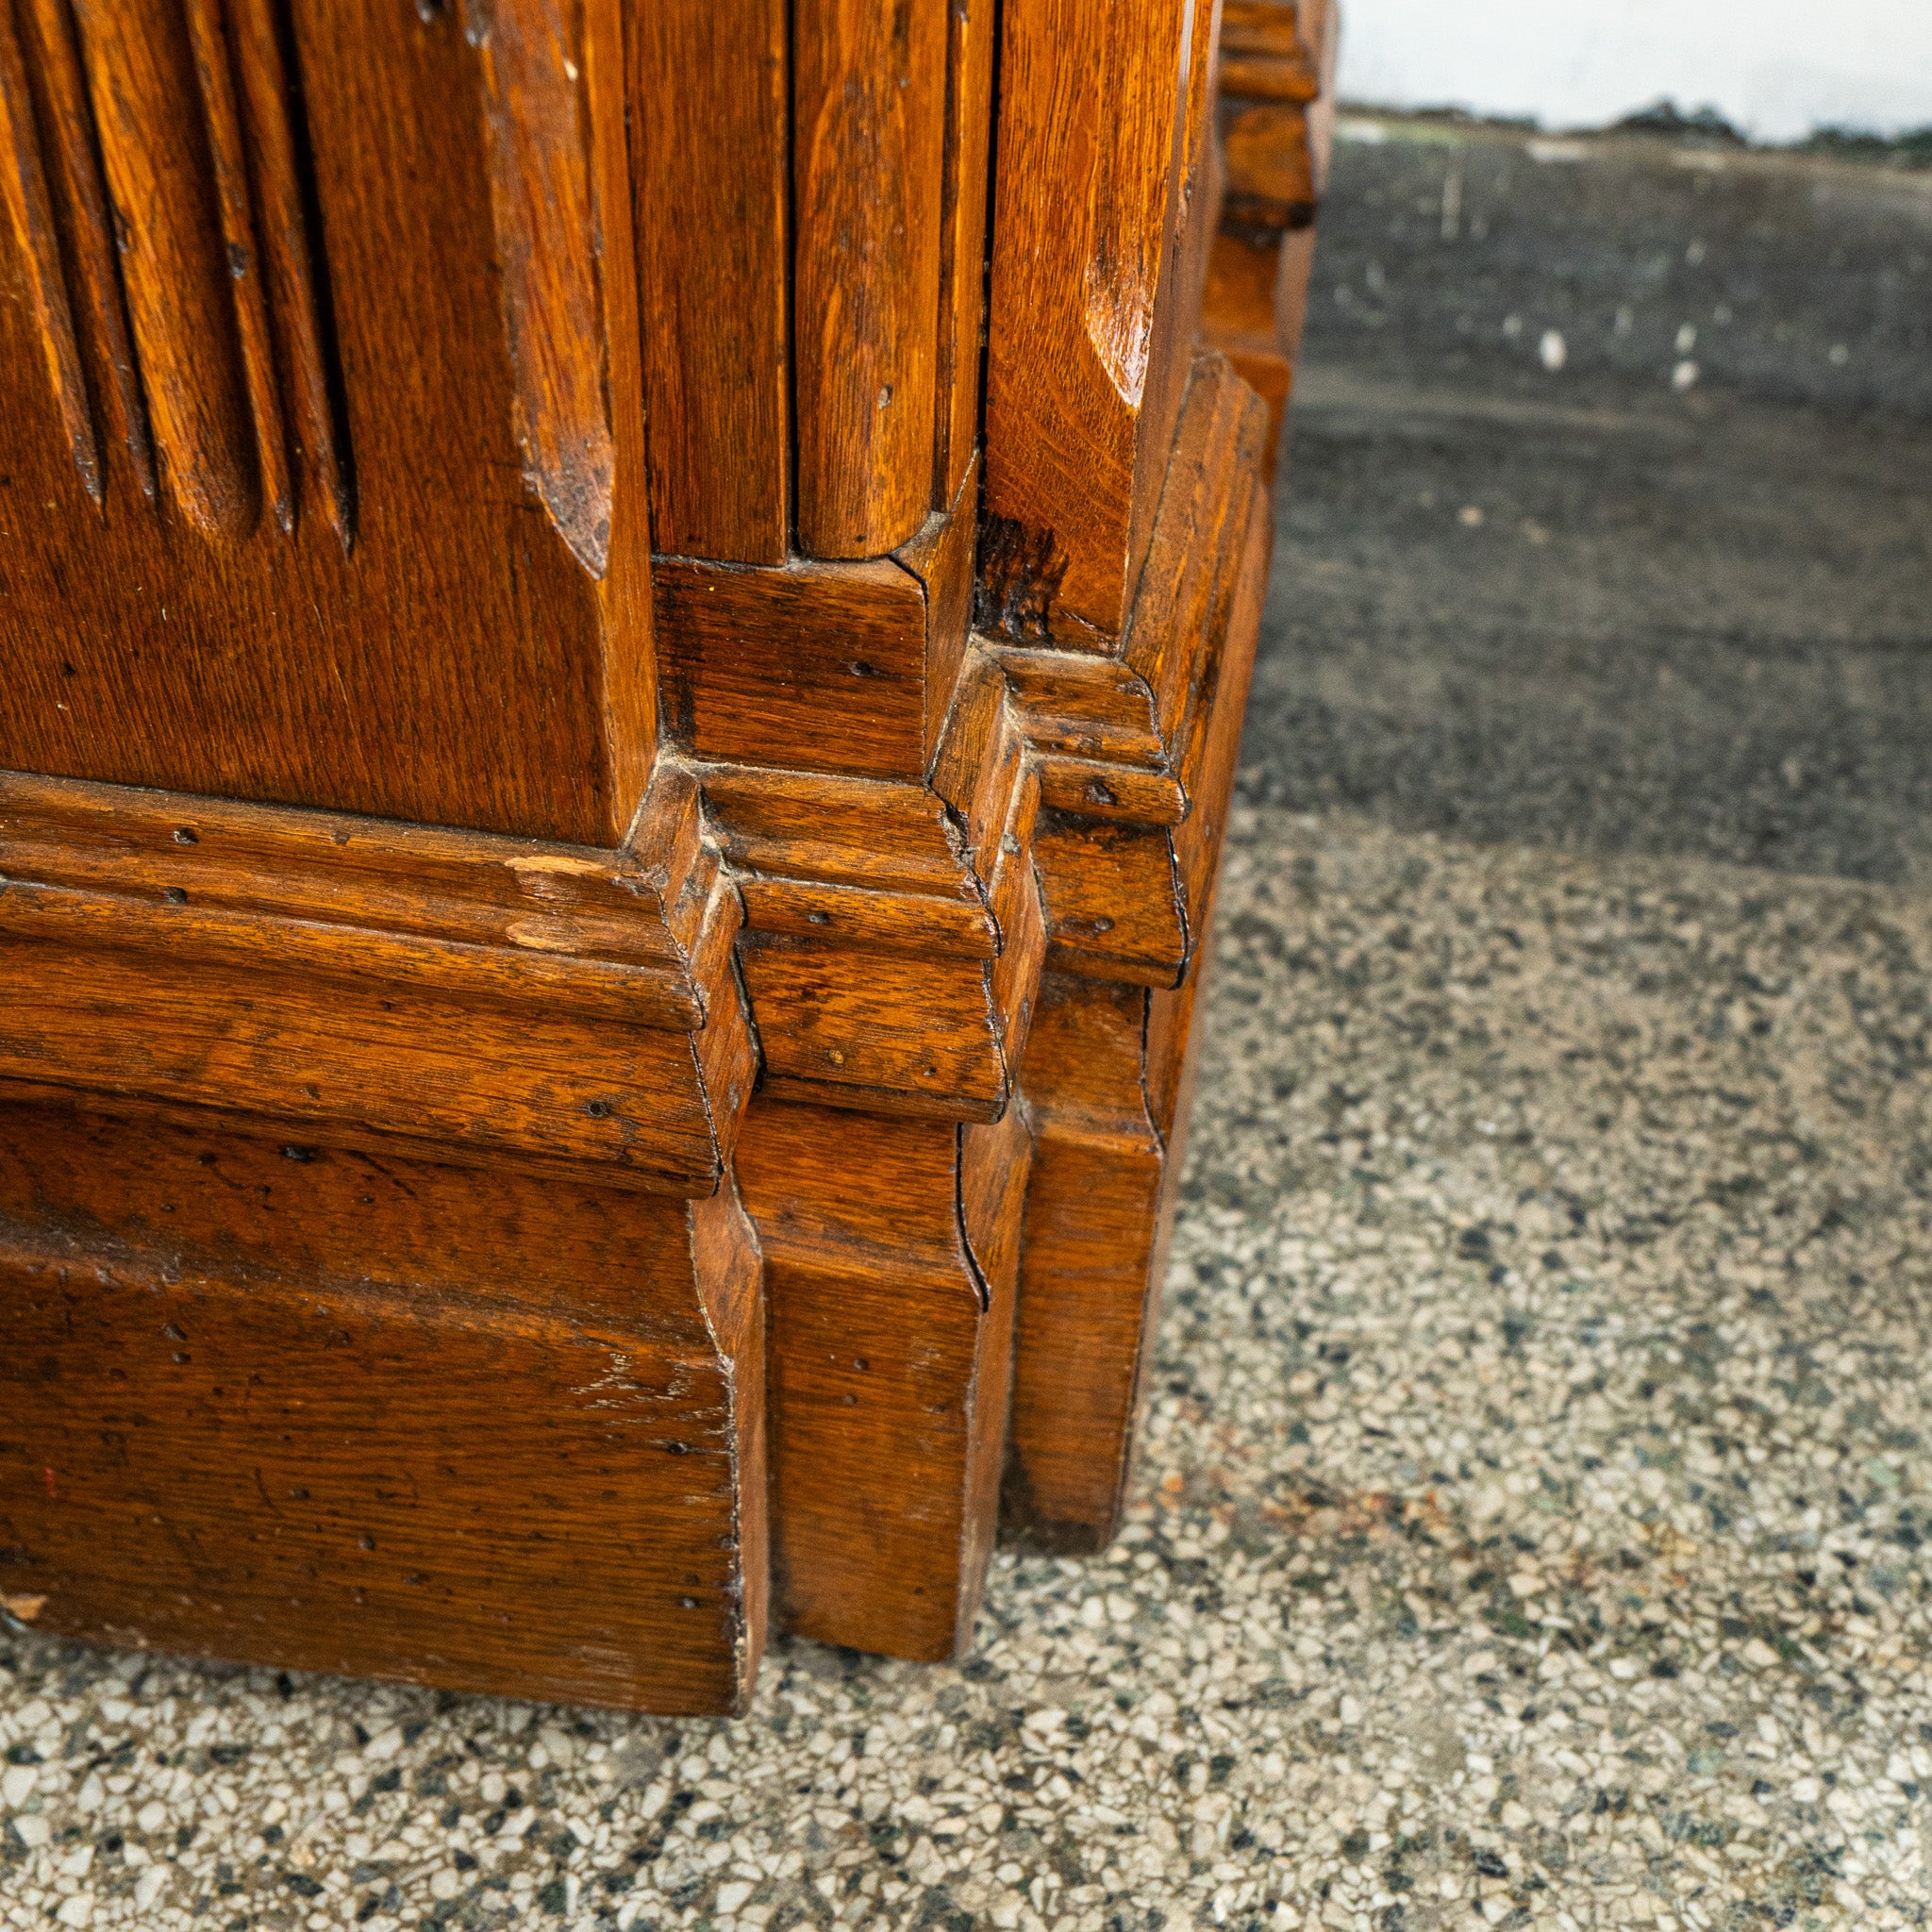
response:
[[[622,81],[618,0],[0,4],[0,765],[622,837]]]

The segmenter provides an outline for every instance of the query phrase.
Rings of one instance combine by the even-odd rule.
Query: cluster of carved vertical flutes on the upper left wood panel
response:
[[[0,199],[97,504],[102,410],[141,493],[156,498],[158,468],[203,533],[245,535],[263,498],[292,531],[299,454],[346,543],[346,450],[276,6],[0,6]]]

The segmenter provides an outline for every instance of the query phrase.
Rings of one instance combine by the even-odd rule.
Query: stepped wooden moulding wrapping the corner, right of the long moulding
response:
[[[1068,970],[1184,976],[1206,864],[1182,864],[1184,827],[1264,421],[1223,357],[1196,363],[1124,655],[974,645],[925,784],[692,767],[740,877],[767,1092],[993,1121],[1047,945]]]

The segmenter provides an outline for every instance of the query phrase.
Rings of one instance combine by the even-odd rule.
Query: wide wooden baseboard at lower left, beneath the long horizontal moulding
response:
[[[661,1712],[750,1696],[763,1310],[730,1192],[0,1105],[0,1588],[35,1629]]]

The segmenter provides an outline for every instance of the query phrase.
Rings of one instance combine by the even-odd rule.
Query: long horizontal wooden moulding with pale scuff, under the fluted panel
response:
[[[624,852],[0,779],[0,1084],[709,1194],[753,1059],[667,771]]]

